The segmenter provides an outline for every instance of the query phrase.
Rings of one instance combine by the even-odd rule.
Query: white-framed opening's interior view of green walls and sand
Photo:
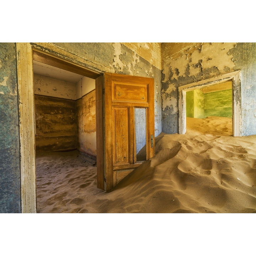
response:
[[[186,92],[186,130],[233,135],[232,80]]]

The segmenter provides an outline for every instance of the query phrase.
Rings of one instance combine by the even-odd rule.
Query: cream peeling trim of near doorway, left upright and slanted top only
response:
[[[106,66],[70,53],[52,43],[16,43],[22,213],[36,213],[33,50],[99,75],[109,71]]]

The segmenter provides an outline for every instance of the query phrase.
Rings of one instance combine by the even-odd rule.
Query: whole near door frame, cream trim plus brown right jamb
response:
[[[35,127],[34,127],[34,88],[33,88],[33,53],[39,57],[62,63],[66,68],[80,69],[86,76],[94,78],[96,90],[96,138],[97,148],[103,146],[102,127],[102,82],[103,74],[109,71],[106,66],[92,62],[89,59],[68,52],[52,43],[16,43],[17,58],[17,85],[20,132],[20,171],[21,171],[21,213],[36,213],[36,154],[35,154]],[[38,57],[38,58],[39,58]],[[54,65],[52,63],[52,65]],[[63,69],[65,69],[63,66]],[[71,71],[73,72],[73,71]],[[96,86],[99,88],[96,89]],[[98,95],[98,96],[97,96]],[[99,144],[98,144],[99,143]],[[102,145],[101,145],[102,144]],[[100,146],[101,145],[101,146]],[[103,154],[101,150],[99,154]],[[97,166],[103,165],[103,155],[98,157]],[[101,161],[100,161],[101,160]],[[100,161],[100,162],[98,162]],[[97,167],[97,172],[98,172]],[[102,168],[103,171],[103,168]],[[97,174],[98,176],[98,174]],[[100,176],[101,177],[101,176]],[[99,181],[98,181],[99,182]],[[98,187],[103,186],[102,181]],[[103,188],[102,188],[103,189]]]

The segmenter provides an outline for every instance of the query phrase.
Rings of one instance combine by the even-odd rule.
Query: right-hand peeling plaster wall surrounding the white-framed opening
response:
[[[178,87],[241,70],[242,135],[256,134],[256,43],[162,43],[162,132],[178,132]]]

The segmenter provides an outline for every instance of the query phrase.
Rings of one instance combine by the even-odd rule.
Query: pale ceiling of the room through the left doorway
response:
[[[47,76],[49,78],[58,79],[76,84],[84,76],[56,68],[48,64],[33,60],[33,72],[37,75]]]

